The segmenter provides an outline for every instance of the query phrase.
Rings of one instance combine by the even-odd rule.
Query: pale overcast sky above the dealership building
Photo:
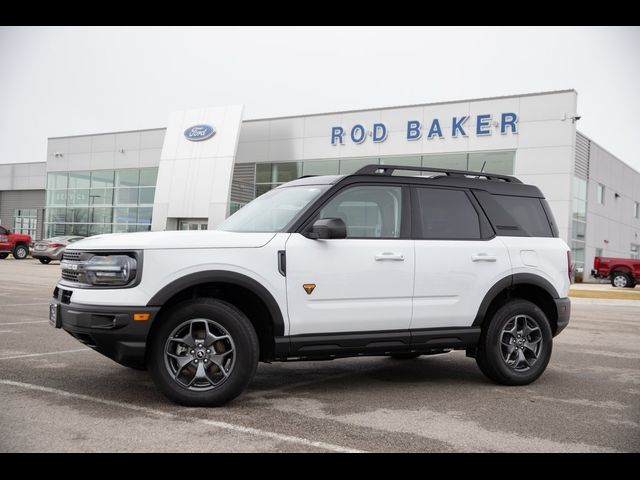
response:
[[[573,88],[578,130],[640,171],[638,27],[0,27],[0,163],[47,138]]]

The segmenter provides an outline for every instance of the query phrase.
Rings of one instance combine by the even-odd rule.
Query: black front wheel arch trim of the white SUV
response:
[[[202,297],[223,300],[242,311],[258,335],[260,360],[268,361],[276,357],[276,339],[284,336],[284,319],[280,307],[263,285],[236,272],[197,272],[163,287],[147,303],[148,306],[160,306],[151,325],[149,338],[174,305]]]

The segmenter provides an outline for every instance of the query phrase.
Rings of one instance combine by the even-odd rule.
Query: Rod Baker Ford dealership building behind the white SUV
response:
[[[167,128],[50,138],[46,161],[0,165],[0,221],[34,239],[212,229],[298,177],[398,164],[538,186],[578,272],[595,255],[639,257],[640,173],[576,130],[574,90],[266,119],[242,112],[186,110]]]

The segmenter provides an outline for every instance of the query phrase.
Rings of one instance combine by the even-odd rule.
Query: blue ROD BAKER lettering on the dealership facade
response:
[[[433,140],[445,138],[445,131],[449,128],[452,138],[468,137],[470,134],[478,137],[489,136],[493,134],[493,129],[499,131],[501,135],[518,133],[518,115],[513,112],[501,113],[497,117],[490,114],[475,117],[462,115],[451,119],[433,118],[425,123],[420,120],[408,120],[405,135],[408,141],[420,140],[423,136]],[[374,123],[370,129],[361,123],[356,123],[348,129],[343,126],[331,127],[331,145],[344,145],[346,141],[359,144],[363,143],[367,137],[371,137],[374,143],[381,143],[388,136],[389,129],[382,122]]]

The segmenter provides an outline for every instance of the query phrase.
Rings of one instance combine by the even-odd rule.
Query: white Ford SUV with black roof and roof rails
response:
[[[370,165],[279,186],[215,231],[74,243],[50,322],[184,405],[233,399],[258,361],[452,349],[525,385],[569,322],[570,271],[538,188]]]

